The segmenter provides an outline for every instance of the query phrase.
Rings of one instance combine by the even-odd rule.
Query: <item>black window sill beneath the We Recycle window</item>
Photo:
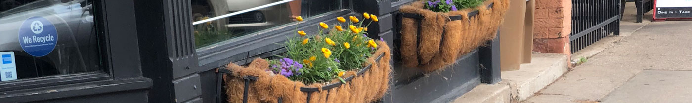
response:
[[[116,91],[131,91],[149,89],[152,87],[149,78],[133,78],[125,80],[101,80],[78,84],[66,84],[54,87],[40,87],[17,91],[2,92],[0,100],[3,102],[33,102],[38,100],[51,100],[57,98],[69,98]]]

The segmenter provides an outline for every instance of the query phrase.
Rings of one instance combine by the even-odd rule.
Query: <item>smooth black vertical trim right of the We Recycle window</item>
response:
[[[108,65],[115,79],[137,78],[142,76],[137,35],[137,25],[133,0],[103,1],[103,16],[107,36]]]

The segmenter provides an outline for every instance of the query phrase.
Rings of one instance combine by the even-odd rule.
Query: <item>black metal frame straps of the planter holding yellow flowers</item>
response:
[[[380,59],[381,59],[383,56],[384,56],[384,54],[379,54],[379,55],[377,56],[377,58],[375,58],[375,62],[372,62],[372,63],[374,64],[374,63],[379,62]],[[365,73],[365,71],[369,70],[370,68],[372,68],[372,64],[363,67],[363,69],[361,69],[360,71],[358,71],[358,73],[356,73],[355,76],[349,76],[349,77],[346,78],[344,81],[345,81],[345,82],[350,82],[351,80],[353,80],[354,78],[356,78],[356,76],[363,76],[363,73]],[[222,87],[224,87],[224,85],[223,85],[223,84],[224,84],[224,82],[223,82],[223,80],[224,80],[224,74],[226,74],[226,75],[232,75],[232,74],[233,74],[233,71],[230,71],[230,69],[228,69],[228,67],[226,67],[226,66],[221,66],[221,67],[217,68],[216,73],[217,73],[217,93],[216,93],[215,96],[216,96],[216,99],[217,99],[217,103],[221,103],[221,101],[223,101],[223,99],[221,98],[221,91],[222,91]],[[250,90],[250,89],[249,89],[249,88],[250,88],[250,83],[255,82],[255,80],[257,80],[257,77],[256,77],[256,76],[244,76],[244,77],[243,77],[243,80],[245,81],[245,82],[244,82],[244,89],[243,89],[243,103],[247,103],[247,102],[248,102],[248,92],[249,92],[249,90]],[[300,91],[305,92],[305,93],[308,94],[308,95],[307,95],[307,101],[306,101],[306,102],[309,103],[312,93],[314,93],[314,92],[321,92],[321,90],[325,90],[325,89],[327,90],[327,92],[329,92],[329,90],[334,89],[334,88],[336,88],[336,87],[340,87],[342,84],[343,84],[343,82],[337,82],[337,83],[334,83],[334,84],[329,84],[329,85],[327,85],[327,86],[318,87],[318,88],[300,87]],[[321,89],[320,89],[320,88],[321,88]],[[230,91],[230,90],[229,90],[229,91]],[[329,97],[329,93],[327,93],[327,97]],[[279,103],[281,103],[282,100],[283,100],[283,98],[278,98],[278,102],[279,102]]]

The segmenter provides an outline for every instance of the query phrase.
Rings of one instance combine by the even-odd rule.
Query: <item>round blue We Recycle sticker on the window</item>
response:
[[[19,45],[31,56],[41,57],[53,52],[57,44],[55,25],[43,16],[32,16],[19,27]]]

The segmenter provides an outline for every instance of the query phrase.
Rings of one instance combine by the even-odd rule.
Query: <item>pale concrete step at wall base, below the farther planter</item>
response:
[[[502,82],[481,84],[453,103],[509,103],[526,100],[567,71],[567,55],[534,54],[521,69],[502,71]]]

